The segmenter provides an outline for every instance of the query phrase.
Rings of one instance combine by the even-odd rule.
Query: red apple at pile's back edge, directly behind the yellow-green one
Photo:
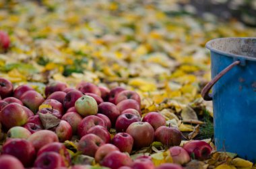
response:
[[[91,93],[101,96],[100,89],[98,88],[98,86],[90,82],[81,81],[77,84],[76,89],[81,91],[82,93]]]

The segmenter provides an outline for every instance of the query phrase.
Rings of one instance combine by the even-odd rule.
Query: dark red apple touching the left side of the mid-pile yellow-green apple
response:
[[[84,94],[82,94],[82,92],[78,90],[71,90],[67,92],[67,95],[65,96],[63,101],[63,105],[66,108],[66,110],[75,106],[75,101],[81,98],[82,96],[84,96]]]

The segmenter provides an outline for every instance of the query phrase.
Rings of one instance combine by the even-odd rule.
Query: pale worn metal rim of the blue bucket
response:
[[[227,53],[227,52],[223,52],[222,50],[218,50],[216,48],[213,48],[211,46],[211,43],[215,40],[221,40],[221,39],[253,39],[253,40],[256,40],[255,37],[229,37],[229,38],[215,38],[215,39],[212,39],[210,41],[208,41],[206,44],[205,44],[205,47],[207,49],[209,49],[211,52],[214,52],[214,53],[218,53],[218,54],[221,54],[221,55],[225,55],[227,57],[233,57],[233,58],[236,58],[236,59],[246,59],[246,60],[249,60],[249,61],[256,61],[256,56],[255,57],[247,57],[247,56],[243,56],[243,55],[236,55],[236,54],[233,54],[233,53]]]

